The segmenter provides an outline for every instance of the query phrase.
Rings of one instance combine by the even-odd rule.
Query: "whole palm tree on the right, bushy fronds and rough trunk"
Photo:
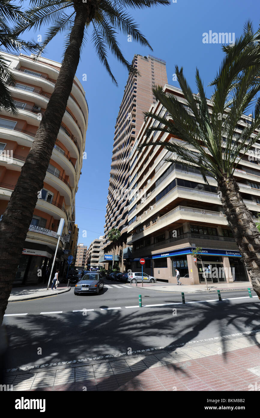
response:
[[[233,46],[223,47],[226,54],[212,82],[214,91],[210,103],[211,112],[198,69],[195,75],[198,94],[192,94],[183,69],[176,66],[175,73],[186,107],[162,87],[154,87],[154,96],[167,113],[164,116],[145,113],[146,119],[151,117],[160,124],[147,130],[146,139],[139,149],[147,145],[163,146],[173,153],[172,158],[166,161],[182,161],[187,167],[199,168],[205,183],[206,175],[211,173],[217,181],[223,211],[242,261],[260,298],[260,234],[234,178],[237,164],[260,138],[260,133],[254,133],[260,125],[260,99],[256,99],[260,91],[259,41],[260,32],[253,34],[246,27],[244,34]],[[252,121],[247,123],[241,133],[235,133],[242,115],[252,108]],[[148,138],[153,131],[169,133],[182,141],[151,141]]]

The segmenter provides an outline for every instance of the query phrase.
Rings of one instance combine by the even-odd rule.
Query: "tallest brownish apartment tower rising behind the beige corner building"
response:
[[[152,87],[167,83],[166,62],[162,59],[135,55],[133,65],[140,76],[129,75],[116,119],[104,225],[104,253],[114,252],[114,244],[108,239],[109,231],[117,228],[121,232],[121,240],[115,246],[115,260],[119,261],[121,270],[124,269],[129,191],[134,189],[134,179],[129,178],[130,156],[136,148],[136,136],[144,122],[143,112],[155,103]]]

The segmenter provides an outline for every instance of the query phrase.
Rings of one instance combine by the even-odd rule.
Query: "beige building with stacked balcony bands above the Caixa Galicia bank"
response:
[[[164,91],[174,94],[187,107],[180,89],[166,84]],[[210,100],[208,107],[210,110]],[[150,110],[161,115],[166,113],[159,102]],[[241,133],[248,123],[250,116],[243,116],[235,129],[234,140],[235,133]],[[132,246],[131,269],[140,271],[139,260],[144,257],[144,271],[169,282],[177,283],[176,268],[183,277],[183,284],[205,283],[203,269],[209,283],[248,281],[222,212],[215,179],[207,176],[209,184],[206,184],[198,170],[188,168],[181,161],[165,162],[164,158],[169,158],[171,153],[159,145],[136,150],[144,141],[146,128],[152,124],[151,118],[143,123],[131,154],[129,176],[135,179],[136,187],[136,195],[129,201],[127,219],[127,245]],[[154,140],[180,141],[160,131],[151,136]],[[222,139],[225,148],[225,137]],[[256,143],[255,148],[260,153],[260,143]],[[247,208],[256,218],[260,209],[260,165],[252,161],[252,152],[255,151],[251,150],[241,159],[235,178]],[[141,189],[145,189],[145,197],[140,197]],[[192,254],[196,247],[202,247],[202,263]]]

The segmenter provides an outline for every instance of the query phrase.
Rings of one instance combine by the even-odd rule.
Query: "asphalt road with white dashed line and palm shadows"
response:
[[[178,346],[260,329],[260,301],[248,298],[247,291],[222,292],[227,300],[221,302],[214,301],[217,292],[189,293],[186,302],[197,303],[183,305],[177,293],[105,284],[110,287],[98,295],[75,296],[72,288],[58,296],[9,303],[5,314],[19,315],[4,318],[10,339],[7,368],[117,356],[129,349]],[[143,308],[138,307],[139,294]]]

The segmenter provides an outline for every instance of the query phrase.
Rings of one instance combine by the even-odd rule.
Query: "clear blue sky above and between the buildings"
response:
[[[220,43],[202,43],[202,33],[230,32],[239,37],[247,19],[252,20],[255,30],[259,25],[260,6],[255,0],[177,0],[169,6],[151,10],[134,10],[132,15],[139,29],[146,36],[153,51],[119,35],[124,56],[131,62],[134,54],[152,54],[166,61],[168,83],[172,81],[174,67],[184,67],[184,74],[197,93],[194,74],[196,66],[204,81],[207,96],[211,89],[207,85],[214,78],[223,57]],[[43,31],[38,31],[42,33]],[[43,35],[44,33],[42,33]],[[34,35],[35,38],[35,35]],[[44,56],[61,61],[63,37],[57,36]],[[76,76],[86,91],[89,116],[86,135],[87,159],[83,160],[82,175],[76,194],[76,223],[79,227],[78,242],[89,245],[104,232],[109,172],[113,150],[114,125],[127,80],[126,70],[114,57],[109,62],[119,87],[109,78],[100,64],[90,39],[83,49]],[[82,81],[87,74],[87,81]],[[87,237],[82,237],[82,231]]]

